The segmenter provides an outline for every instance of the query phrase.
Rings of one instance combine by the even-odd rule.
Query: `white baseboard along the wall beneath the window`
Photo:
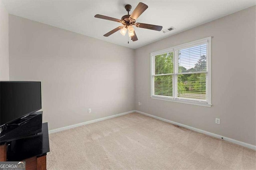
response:
[[[177,122],[173,122],[173,121],[169,121],[167,119],[164,119],[164,118],[161,118],[161,117],[157,117],[157,116],[154,116],[154,115],[150,115],[148,113],[144,113],[144,112],[141,112],[141,111],[135,111],[136,113],[140,113],[142,115],[146,115],[146,116],[149,116],[149,117],[153,117],[155,119],[159,119],[161,121],[164,121],[164,122],[168,122],[168,123],[171,123],[173,125],[178,125],[180,127],[184,127],[184,128],[188,128],[190,130],[194,130],[196,132],[200,132],[200,133],[203,133],[203,134],[207,134],[209,136],[213,136],[213,137],[216,137],[216,138],[220,138],[220,139],[223,139],[223,140],[226,140],[228,142],[232,142],[234,144],[238,144],[240,146],[244,146],[246,148],[250,148],[250,149],[253,149],[253,150],[256,150],[256,146],[255,145],[252,145],[252,144],[248,144],[248,143],[245,143],[245,142],[241,142],[241,141],[238,141],[238,140],[234,140],[234,139],[231,139],[231,138],[227,138],[227,137],[224,137],[224,136],[221,136],[221,135],[218,135],[218,134],[215,134],[215,133],[211,133],[211,132],[207,132],[205,130],[201,130],[201,129],[198,129],[198,128],[194,128],[194,127],[190,127],[190,126],[187,126],[187,125],[183,125],[181,123],[177,123]]]

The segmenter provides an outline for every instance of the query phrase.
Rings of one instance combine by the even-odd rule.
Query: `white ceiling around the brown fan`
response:
[[[3,2],[10,14],[133,49],[256,4],[255,0],[4,0]],[[133,11],[139,2],[147,4],[148,9],[136,22],[160,25],[163,26],[163,30],[173,26],[176,30],[164,34],[135,28],[138,41],[130,40],[129,44],[127,34],[122,36],[116,32],[109,37],[103,36],[121,24],[94,18],[95,14],[121,19],[127,14],[124,9],[126,4],[131,4]]]

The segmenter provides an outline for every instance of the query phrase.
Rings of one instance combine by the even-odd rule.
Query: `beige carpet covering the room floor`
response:
[[[256,152],[138,113],[50,134],[48,170],[256,169]]]

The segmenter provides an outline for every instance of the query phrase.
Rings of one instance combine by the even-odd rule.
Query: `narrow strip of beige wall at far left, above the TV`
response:
[[[9,80],[9,18],[0,1],[0,80]]]

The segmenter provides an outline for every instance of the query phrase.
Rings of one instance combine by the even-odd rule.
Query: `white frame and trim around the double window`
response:
[[[151,99],[159,99],[159,100],[165,100],[165,101],[173,101],[173,102],[178,102],[178,103],[186,103],[186,104],[191,104],[191,105],[199,105],[199,106],[206,106],[206,107],[211,107],[212,106],[212,97],[211,97],[211,40],[212,37],[207,37],[207,38],[203,38],[201,40],[196,40],[193,42],[189,42],[189,43],[185,43],[182,45],[177,45],[175,47],[170,47],[167,49],[162,49],[160,51],[156,51],[156,52],[152,52],[150,53],[150,70],[151,70]],[[191,46],[195,46],[195,45],[200,45],[200,44],[204,44],[207,43],[207,70],[206,70],[206,101],[200,101],[197,99],[181,99],[179,97],[177,97],[177,82],[176,82],[176,77],[178,75],[176,69],[178,69],[178,62],[176,61],[178,58],[178,49],[182,49],[182,48],[188,48]],[[156,55],[160,55],[163,53],[168,53],[168,52],[173,52],[173,57],[174,57],[174,70],[172,75],[172,97],[168,97],[168,96],[159,96],[159,95],[153,95],[153,91],[154,91],[154,57]],[[194,73],[201,73],[201,72],[194,72]]]

